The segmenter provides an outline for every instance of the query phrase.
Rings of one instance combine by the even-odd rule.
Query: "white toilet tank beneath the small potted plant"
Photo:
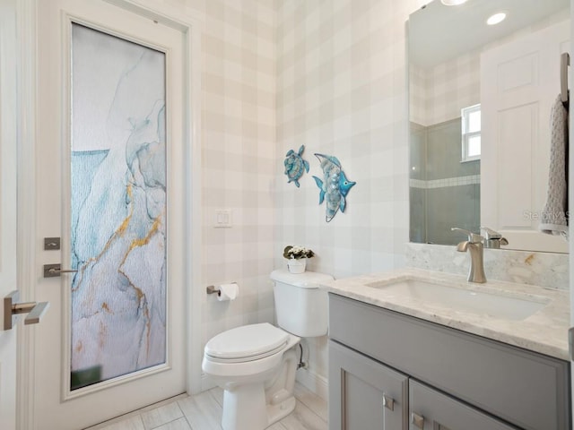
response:
[[[271,272],[271,280],[277,325],[304,338],[326,335],[327,293],[319,289],[319,284],[333,277],[315,271],[293,274],[283,269]]]

